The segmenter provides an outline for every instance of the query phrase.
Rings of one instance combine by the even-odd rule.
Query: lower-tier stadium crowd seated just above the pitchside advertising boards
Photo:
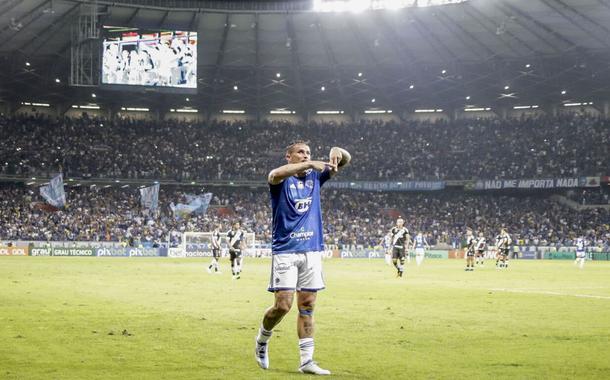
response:
[[[180,243],[184,231],[211,231],[221,224],[227,231],[240,220],[257,240],[269,243],[270,206],[266,188],[212,188],[208,212],[174,218],[168,205],[192,190],[162,187],[159,211],[149,213],[139,204],[136,189],[70,187],[68,206],[43,211],[37,188],[0,187],[0,240],[121,241],[125,244]],[[201,191],[199,191],[201,192]],[[454,191],[430,193],[377,193],[323,189],[327,244],[379,245],[398,216],[411,233],[424,232],[431,244],[459,245],[466,227],[488,239],[505,226],[522,245],[570,246],[586,236],[610,248],[610,211],[575,211],[547,196],[473,194]]]

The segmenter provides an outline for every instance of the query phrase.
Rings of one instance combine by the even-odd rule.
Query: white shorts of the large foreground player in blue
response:
[[[278,253],[271,256],[271,279],[267,290],[317,292],[325,288],[322,253]]]

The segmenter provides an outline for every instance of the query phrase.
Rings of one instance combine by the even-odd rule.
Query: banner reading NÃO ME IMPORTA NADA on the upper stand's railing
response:
[[[491,179],[479,180],[474,190],[503,189],[560,189],[599,187],[599,177],[541,178],[541,179]]]

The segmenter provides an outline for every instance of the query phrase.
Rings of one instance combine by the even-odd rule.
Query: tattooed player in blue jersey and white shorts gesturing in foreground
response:
[[[255,357],[261,368],[269,368],[269,339],[273,328],[292,307],[296,292],[299,372],[330,375],[313,361],[313,313],[317,291],[325,286],[320,187],[347,165],[351,156],[346,150],[333,147],[329,162],[312,161],[307,143],[298,141],[286,148],[285,158],[288,163],[273,169],[267,177],[273,215],[268,290],[274,292],[275,302],[265,312],[256,336]]]

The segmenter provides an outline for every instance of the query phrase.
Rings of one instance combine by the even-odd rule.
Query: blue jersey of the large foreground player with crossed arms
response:
[[[330,169],[310,170],[303,177],[288,177],[269,185],[273,214],[271,251],[300,253],[321,251],[322,210],[320,187],[330,179]]]

